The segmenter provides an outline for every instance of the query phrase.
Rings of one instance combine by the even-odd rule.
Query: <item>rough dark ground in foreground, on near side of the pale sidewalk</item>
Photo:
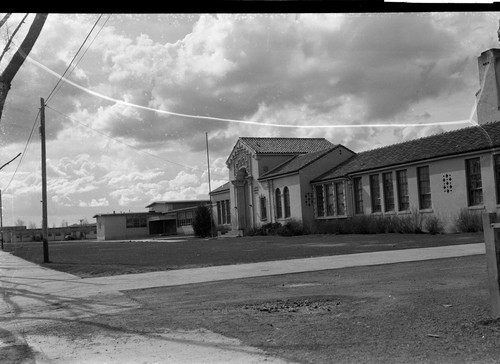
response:
[[[154,320],[301,363],[493,363],[484,256],[126,292]],[[311,284],[312,283],[312,284]],[[128,321],[128,324],[132,324]]]

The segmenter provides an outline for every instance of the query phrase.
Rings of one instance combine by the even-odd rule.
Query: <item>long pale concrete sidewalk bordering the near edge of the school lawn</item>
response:
[[[9,253],[0,252],[0,272],[2,277],[1,287],[4,289],[16,288],[17,290],[36,294],[43,293],[67,298],[82,298],[124,290],[452,258],[484,253],[485,246],[479,243],[179,269],[109,277],[79,278],[68,273],[41,267],[38,264],[28,262]]]

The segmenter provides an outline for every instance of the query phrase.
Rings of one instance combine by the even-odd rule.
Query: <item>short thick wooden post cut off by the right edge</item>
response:
[[[497,214],[483,213],[483,233],[486,249],[486,268],[488,271],[488,290],[493,318],[500,317],[500,224]]]

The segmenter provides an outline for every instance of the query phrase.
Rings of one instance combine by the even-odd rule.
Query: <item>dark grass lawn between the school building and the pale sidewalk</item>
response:
[[[80,277],[253,263],[444,245],[482,243],[482,233],[253,236],[241,238],[49,242],[5,244],[4,250]]]

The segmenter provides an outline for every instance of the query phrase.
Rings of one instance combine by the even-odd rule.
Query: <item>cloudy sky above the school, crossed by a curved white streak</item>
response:
[[[215,189],[240,136],[325,137],[358,152],[469,126],[477,57],[499,46],[499,18],[50,14],[0,121],[0,165],[23,152],[0,171],[4,225],[41,226],[40,98],[49,227],[95,222],[207,198],[206,135]]]

